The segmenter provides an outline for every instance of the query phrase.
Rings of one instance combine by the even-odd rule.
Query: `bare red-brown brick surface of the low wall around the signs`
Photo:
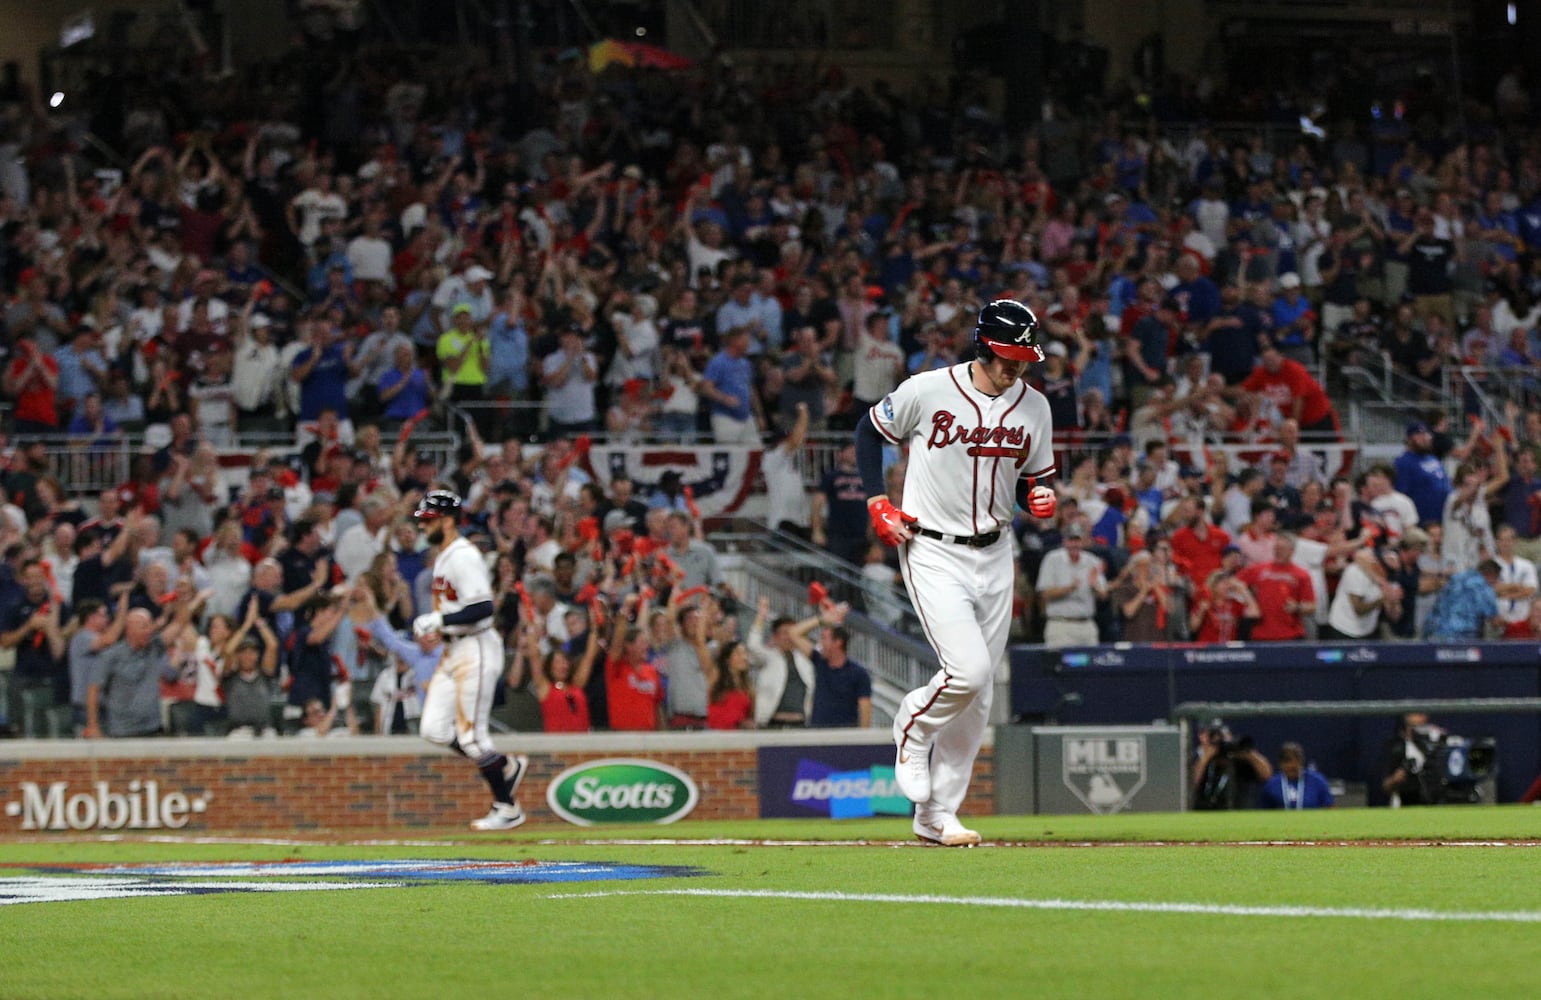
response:
[[[256,747],[253,747],[256,749]],[[68,783],[66,795],[96,794],[105,781],[114,795],[190,798],[188,831],[316,831],[461,826],[487,809],[487,787],[462,758],[442,752],[314,757],[180,757],[0,760],[0,834],[22,831],[22,783]],[[754,747],[656,752],[530,753],[530,773],[519,800],[536,823],[562,821],[546,804],[546,787],[562,770],[606,757],[636,757],[670,764],[690,775],[700,801],[686,820],[747,820],[758,815],[758,755]],[[139,783],[134,786],[133,783]],[[963,812],[994,812],[991,749],[980,752]],[[202,806],[202,809],[200,809]],[[136,806],[137,807],[137,806]],[[96,827],[92,827],[96,829]]]

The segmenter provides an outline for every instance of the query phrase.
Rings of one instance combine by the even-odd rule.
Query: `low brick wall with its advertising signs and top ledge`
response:
[[[590,800],[621,807],[616,821],[653,804],[676,812],[683,787],[693,786],[693,806],[672,817],[689,821],[908,815],[895,801],[886,737],[881,729],[843,729],[505,735],[495,743],[530,757],[519,800],[532,821],[562,823],[547,790],[564,775],[570,790],[582,773],[601,786],[587,789]],[[636,764],[584,769],[595,761]],[[991,761],[986,741],[966,815],[994,812]],[[485,810],[476,769],[415,737],[0,743],[0,834],[8,835],[444,827]]]

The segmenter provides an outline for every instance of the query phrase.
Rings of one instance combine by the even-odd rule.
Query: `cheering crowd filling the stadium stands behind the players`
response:
[[[1042,319],[1062,438],[1057,516],[1016,525],[1025,636],[1541,633],[1541,154],[1510,119],[1392,156],[1133,105],[1020,137],[792,63],[542,55],[513,109],[442,55],[345,54],[319,88],[311,57],[125,83],[120,173],[9,109],[11,730],[410,730],[433,484],[495,561],[510,724],[865,724],[844,606],[744,607],[678,482],[601,485],[584,447],[763,444],[769,524],[892,592],[851,450],[812,492],[797,453],[966,359],[994,297]],[[1419,401],[1407,451],[1350,475],[1322,373],[1381,357],[1513,391],[1469,433]],[[445,402],[472,414],[448,461],[415,444]],[[49,475],[123,435],[122,485],[82,505]],[[253,435],[285,444],[242,445],[233,488]]]

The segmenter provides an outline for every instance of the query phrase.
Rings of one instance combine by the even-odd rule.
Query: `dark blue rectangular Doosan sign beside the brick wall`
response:
[[[760,747],[760,815],[908,817],[894,783],[894,746]]]

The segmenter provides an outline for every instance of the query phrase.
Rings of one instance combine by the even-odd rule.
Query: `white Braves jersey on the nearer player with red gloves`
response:
[[[872,407],[872,424],[909,442],[905,513],[945,535],[986,535],[1011,524],[1022,476],[1054,475],[1054,424],[1043,393],[1019,382],[988,396],[969,365],[914,374]]]

